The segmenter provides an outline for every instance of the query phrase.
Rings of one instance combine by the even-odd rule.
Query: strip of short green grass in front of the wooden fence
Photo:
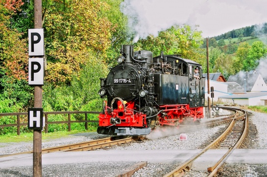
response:
[[[53,133],[45,133],[42,132],[42,141],[67,137],[68,135],[75,133],[86,133],[86,132],[96,132],[96,128],[90,127],[88,131],[77,131],[73,130],[71,132],[60,131]],[[11,142],[33,142],[33,131],[31,133],[21,133],[21,135],[17,135],[15,133],[8,133],[0,136],[1,143],[11,143]]]

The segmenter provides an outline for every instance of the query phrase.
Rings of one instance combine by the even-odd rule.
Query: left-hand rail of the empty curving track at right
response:
[[[229,126],[227,127],[227,129],[224,131],[224,133],[222,133],[216,140],[214,140],[212,143],[210,143],[208,146],[206,146],[203,150],[201,150],[198,154],[194,155],[193,157],[191,157],[189,160],[187,160],[186,162],[182,163],[181,165],[179,165],[178,167],[176,167],[174,170],[170,171],[168,174],[166,174],[164,177],[181,177],[184,175],[184,171],[189,171],[190,167],[193,163],[193,161],[195,159],[197,159],[200,155],[204,154],[207,150],[209,150],[212,147],[217,146],[217,144],[219,144],[220,142],[222,142],[223,139],[226,138],[226,136],[230,133],[230,131],[232,130],[233,126],[235,125],[235,122],[238,119],[241,119],[241,117],[244,117],[244,114],[241,116],[238,116],[238,111],[230,109],[230,108],[226,108],[227,110],[231,110],[234,111],[235,113],[233,115],[230,115],[229,117],[234,117],[231,121],[231,123],[229,124]],[[242,139],[243,140],[243,139]],[[240,142],[242,142],[241,138],[240,138]],[[239,145],[240,146],[240,145]],[[232,149],[232,148],[231,148]],[[226,157],[226,155],[224,155],[224,157]],[[221,160],[222,162],[222,160]],[[217,165],[218,166],[218,165]],[[216,170],[216,168],[214,169],[214,171]],[[216,172],[217,173],[217,172]]]

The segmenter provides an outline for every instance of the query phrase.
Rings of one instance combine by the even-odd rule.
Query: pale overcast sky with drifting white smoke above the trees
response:
[[[124,0],[121,11],[137,38],[174,24],[198,24],[206,38],[267,22],[267,0]]]

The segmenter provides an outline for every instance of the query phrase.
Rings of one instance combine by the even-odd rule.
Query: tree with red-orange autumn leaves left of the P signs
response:
[[[0,100],[27,106],[33,97],[27,84],[27,41],[11,23],[23,4],[21,0],[0,0]]]

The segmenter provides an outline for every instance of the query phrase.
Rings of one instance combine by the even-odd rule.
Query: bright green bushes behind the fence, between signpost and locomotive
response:
[[[89,56],[88,56],[89,57]],[[91,56],[83,69],[80,77],[74,77],[70,86],[53,87],[46,85],[43,94],[44,111],[101,111],[102,100],[97,94],[100,88],[99,78],[106,77],[108,71],[101,57]],[[84,115],[73,115],[72,120],[84,120]],[[64,115],[50,117],[49,121],[63,121]],[[88,120],[98,120],[96,114],[89,114]],[[98,123],[89,123],[97,126]],[[64,131],[67,125],[49,125],[49,132]],[[84,123],[73,123],[71,129],[84,130]]]

